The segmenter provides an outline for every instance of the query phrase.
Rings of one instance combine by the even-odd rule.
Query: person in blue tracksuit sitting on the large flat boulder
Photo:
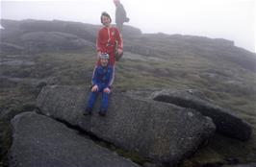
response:
[[[108,54],[101,54],[99,60],[100,65],[95,66],[93,71],[90,97],[84,115],[91,114],[98,93],[102,93],[99,115],[105,116],[108,110],[109,94],[114,82],[114,68],[109,64]]]

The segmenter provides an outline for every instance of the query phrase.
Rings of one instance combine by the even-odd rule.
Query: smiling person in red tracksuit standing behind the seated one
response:
[[[99,56],[102,53],[108,53],[110,56],[109,63],[115,67],[115,44],[117,43],[116,49],[118,55],[121,55],[123,52],[122,39],[120,37],[119,31],[111,25],[112,19],[107,12],[101,13],[100,21],[104,27],[99,30],[96,41],[98,55],[97,65],[100,64]]]

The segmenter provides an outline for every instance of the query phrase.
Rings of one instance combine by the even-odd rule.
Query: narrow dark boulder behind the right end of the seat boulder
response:
[[[248,140],[250,138],[252,129],[248,123],[232,114],[232,111],[227,108],[218,107],[206,100],[197,98],[193,95],[192,90],[156,91],[152,94],[152,99],[198,110],[203,115],[211,117],[217,127],[217,132],[225,136],[240,140]]]

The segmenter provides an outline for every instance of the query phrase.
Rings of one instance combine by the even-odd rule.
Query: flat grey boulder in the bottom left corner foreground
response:
[[[36,112],[16,115],[12,126],[10,167],[139,167],[64,124]]]

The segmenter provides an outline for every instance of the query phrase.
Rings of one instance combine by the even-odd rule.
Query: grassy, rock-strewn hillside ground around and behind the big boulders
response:
[[[94,64],[97,26],[62,21],[27,22],[29,24],[7,21],[13,29],[1,31],[2,166],[12,144],[10,121],[13,116],[33,110],[37,106],[38,93],[45,85],[89,85]],[[208,145],[180,165],[235,166],[255,162],[255,54],[224,39],[142,35],[138,29],[130,27],[126,27],[126,31],[134,36],[124,33],[125,54],[116,64],[114,91],[133,90],[133,94],[149,97],[155,90],[196,89],[211,103],[232,110],[232,114],[252,127],[252,135],[247,141],[215,134]],[[18,40],[16,36],[20,36]],[[40,36],[53,38],[45,37],[35,42]],[[66,38],[70,38],[72,44],[63,43]],[[71,48],[64,50],[66,45]]]

